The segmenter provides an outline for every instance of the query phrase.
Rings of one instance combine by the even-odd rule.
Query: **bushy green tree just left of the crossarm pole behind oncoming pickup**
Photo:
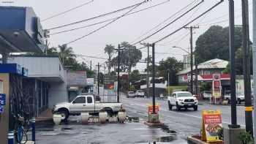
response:
[[[176,58],[168,57],[166,60],[162,60],[159,62],[158,72],[160,77],[165,77],[165,80],[168,80],[168,72],[169,72],[169,84],[176,85],[178,84],[177,72],[181,71],[183,68],[183,63],[178,61]]]

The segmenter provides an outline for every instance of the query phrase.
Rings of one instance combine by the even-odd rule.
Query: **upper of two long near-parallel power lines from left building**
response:
[[[78,23],[83,23],[83,22],[86,22],[86,21],[89,21],[89,20],[94,20],[96,18],[105,17],[106,15],[112,15],[113,13],[116,13],[116,12],[121,12],[121,11],[127,10],[129,8],[132,8],[132,7],[137,7],[138,5],[143,4],[144,2],[146,2],[146,0],[143,1],[143,2],[140,2],[138,4],[133,4],[132,6],[129,6],[129,7],[124,7],[124,8],[119,9],[119,10],[114,10],[112,12],[107,12],[107,13],[104,13],[102,15],[97,15],[97,16],[92,17],[92,18],[87,18],[87,19],[84,19],[84,20],[79,20],[79,21],[76,21],[74,23],[68,23],[68,24],[64,24],[64,25],[61,25],[61,26],[56,26],[56,27],[50,28],[48,30],[59,29],[59,28],[63,28],[63,27],[66,27],[66,26],[71,26],[71,25],[75,25],[75,24],[78,24]]]

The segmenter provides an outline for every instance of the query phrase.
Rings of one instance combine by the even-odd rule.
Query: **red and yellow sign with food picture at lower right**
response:
[[[222,114],[220,110],[203,110],[202,140],[208,142],[221,142],[218,137],[222,129]]]

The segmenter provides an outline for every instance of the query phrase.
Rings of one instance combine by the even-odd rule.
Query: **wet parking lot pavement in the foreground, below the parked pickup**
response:
[[[37,126],[39,144],[187,143],[167,126],[148,127],[144,121],[125,124],[70,124]]]

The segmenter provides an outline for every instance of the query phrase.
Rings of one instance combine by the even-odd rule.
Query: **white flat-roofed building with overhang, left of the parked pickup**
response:
[[[67,102],[67,72],[59,56],[11,56],[8,63],[29,69],[23,89],[29,91],[35,116],[58,102]]]

